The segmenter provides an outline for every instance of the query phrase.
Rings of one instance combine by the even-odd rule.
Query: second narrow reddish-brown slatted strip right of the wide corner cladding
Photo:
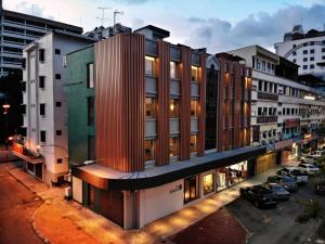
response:
[[[181,46],[180,160],[191,157],[191,64],[192,50]]]

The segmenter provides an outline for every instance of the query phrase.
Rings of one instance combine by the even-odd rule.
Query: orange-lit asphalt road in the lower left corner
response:
[[[0,163],[0,244],[41,244],[31,218],[42,201],[9,175],[13,167]]]

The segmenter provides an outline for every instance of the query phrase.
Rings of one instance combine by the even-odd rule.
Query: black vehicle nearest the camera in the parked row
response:
[[[248,200],[256,207],[275,207],[277,204],[276,195],[264,185],[253,185],[250,188],[240,188],[240,196]]]

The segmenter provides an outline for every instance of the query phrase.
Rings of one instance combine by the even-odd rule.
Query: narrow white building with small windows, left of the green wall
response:
[[[22,82],[26,133],[22,158],[28,172],[50,185],[60,183],[68,170],[64,57],[92,42],[89,37],[54,30],[24,49],[26,66]]]

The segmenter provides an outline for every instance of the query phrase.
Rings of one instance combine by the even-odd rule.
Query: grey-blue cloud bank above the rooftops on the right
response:
[[[288,5],[274,14],[259,12],[232,24],[219,18],[186,20],[192,29],[185,38],[185,44],[194,48],[207,47],[208,52],[223,52],[249,44],[260,44],[270,50],[275,42],[283,41],[283,35],[294,25],[303,24],[304,30],[323,29],[324,4],[310,8]]]

